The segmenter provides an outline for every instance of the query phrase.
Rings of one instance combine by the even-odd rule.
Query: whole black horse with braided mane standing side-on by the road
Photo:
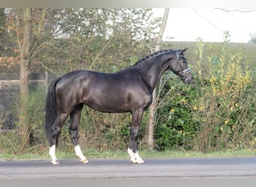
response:
[[[79,120],[84,105],[103,112],[131,112],[128,153],[133,163],[144,163],[137,150],[144,110],[151,104],[153,90],[165,70],[171,70],[185,84],[191,84],[191,70],[183,55],[185,51],[186,49],[168,49],[155,52],[117,73],[76,70],[52,81],[46,96],[45,119],[52,164],[59,164],[55,156],[55,145],[68,115],[69,132],[76,156],[79,156],[82,163],[88,162],[78,140]]]

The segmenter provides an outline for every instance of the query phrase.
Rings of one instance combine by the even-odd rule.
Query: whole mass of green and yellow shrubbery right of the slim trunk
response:
[[[159,108],[155,134],[159,150],[255,148],[255,75],[243,49],[228,49],[228,37],[225,32],[221,52],[207,59],[204,43],[198,40],[195,88],[172,87],[173,95],[165,99],[168,104]]]

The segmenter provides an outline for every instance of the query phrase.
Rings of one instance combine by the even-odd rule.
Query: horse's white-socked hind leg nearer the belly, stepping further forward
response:
[[[88,163],[88,159],[83,155],[82,150],[79,146],[79,122],[81,117],[83,104],[79,104],[70,113],[70,136],[75,147],[76,156],[79,156],[82,163]]]

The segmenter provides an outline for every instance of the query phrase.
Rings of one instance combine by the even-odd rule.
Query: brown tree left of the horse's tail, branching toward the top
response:
[[[12,24],[9,25],[10,30],[13,29],[16,35],[16,43],[18,44],[18,54],[20,58],[19,64],[19,135],[21,138],[22,150],[29,145],[29,137],[31,135],[31,126],[28,123],[28,76],[33,67],[35,55],[42,48],[42,31],[46,19],[46,9],[16,9],[9,12]],[[14,24],[16,21],[16,24]]]

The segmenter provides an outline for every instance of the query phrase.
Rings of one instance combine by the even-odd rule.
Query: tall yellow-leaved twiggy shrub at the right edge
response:
[[[228,37],[221,55],[209,56],[210,71],[198,89],[194,120],[201,123],[201,151],[255,146],[255,80],[242,49],[228,50]]]

